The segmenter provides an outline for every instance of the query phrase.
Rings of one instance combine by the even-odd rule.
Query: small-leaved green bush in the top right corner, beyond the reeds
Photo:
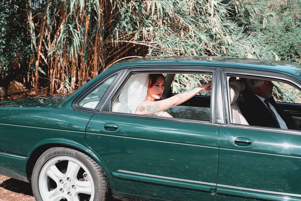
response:
[[[301,0],[273,0],[268,6],[278,12],[278,20],[262,32],[281,61],[301,64]]]

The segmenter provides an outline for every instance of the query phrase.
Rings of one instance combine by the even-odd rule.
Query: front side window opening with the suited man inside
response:
[[[228,77],[228,86],[232,124],[301,130],[301,92],[291,84],[272,78]]]

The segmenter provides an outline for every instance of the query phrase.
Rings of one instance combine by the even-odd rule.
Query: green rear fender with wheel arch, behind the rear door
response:
[[[93,113],[62,108],[21,107],[0,108],[0,114],[0,157],[3,158],[0,160],[0,174],[28,182],[26,163],[34,150],[47,144],[66,145],[86,152],[101,164],[111,187],[115,188],[110,170],[85,143],[85,128]]]

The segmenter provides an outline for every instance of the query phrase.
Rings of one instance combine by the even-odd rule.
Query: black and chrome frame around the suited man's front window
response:
[[[297,130],[287,130],[281,128],[271,128],[271,127],[261,127],[261,126],[252,126],[252,125],[243,125],[243,124],[233,124],[231,123],[230,117],[230,104],[229,104],[229,83],[228,76],[233,77],[249,77],[249,78],[263,78],[266,80],[276,80],[283,83],[287,83],[296,89],[301,91],[301,83],[294,77],[280,74],[280,73],[271,73],[265,71],[248,71],[248,70],[233,70],[233,69],[222,69],[222,96],[223,96],[223,104],[225,108],[225,124],[221,125],[223,127],[231,127],[231,128],[239,128],[239,129],[247,129],[247,130],[258,130],[258,131],[268,131],[275,133],[287,133],[287,134],[296,134],[301,135],[301,131]],[[291,103],[293,104],[293,103]]]

